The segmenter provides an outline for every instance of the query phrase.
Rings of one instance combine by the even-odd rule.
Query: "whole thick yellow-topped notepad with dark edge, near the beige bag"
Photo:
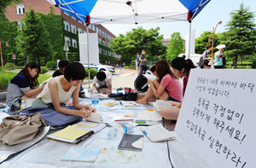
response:
[[[68,125],[66,128],[56,131],[47,137],[61,142],[78,143],[90,136],[92,133],[93,132],[91,130],[77,129]]]

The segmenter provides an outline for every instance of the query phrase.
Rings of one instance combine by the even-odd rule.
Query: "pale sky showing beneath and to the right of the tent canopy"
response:
[[[195,19],[192,21],[192,30],[195,29],[195,38],[198,38],[203,32],[212,32],[212,27],[215,27],[218,21],[222,20],[222,24],[218,25],[216,33],[225,32],[225,25],[230,20],[230,12],[240,9],[240,4],[244,3],[245,7],[249,7],[251,12],[255,14],[254,23],[256,23],[256,0],[211,0],[207,6],[201,10]],[[128,25],[128,24],[102,24],[115,36],[131,32],[132,28],[142,26],[148,30],[150,28],[160,27],[160,34],[164,38],[171,38],[173,32],[180,32],[182,38],[189,34],[189,23],[187,21],[157,23],[157,24],[143,24],[143,25]]]

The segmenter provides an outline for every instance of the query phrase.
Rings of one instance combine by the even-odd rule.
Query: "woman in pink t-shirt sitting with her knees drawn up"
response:
[[[148,79],[150,85],[148,91],[137,103],[147,104],[153,94],[161,100],[182,101],[182,85],[172,73],[167,61],[162,60],[156,63],[156,76],[157,79],[154,81]]]

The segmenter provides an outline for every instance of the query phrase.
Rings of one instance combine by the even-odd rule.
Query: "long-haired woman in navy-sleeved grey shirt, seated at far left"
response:
[[[29,62],[11,79],[7,88],[6,104],[12,111],[20,110],[21,99],[36,98],[44,89],[45,84],[36,87],[40,70],[36,62]]]

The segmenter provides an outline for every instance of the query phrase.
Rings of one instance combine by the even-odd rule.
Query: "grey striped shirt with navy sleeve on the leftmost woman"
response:
[[[28,78],[22,73],[17,74],[8,84],[6,104],[10,107],[14,101],[24,96],[23,92],[28,90],[31,90]]]

